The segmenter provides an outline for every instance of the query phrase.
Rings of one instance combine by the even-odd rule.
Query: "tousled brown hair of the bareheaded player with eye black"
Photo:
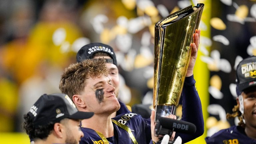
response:
[[[109,75],[106,60],[103,58],[86,59],[82,62],[71,64],[65,69],[61,75],[59,89],[73,101],[73,95],[81,94],[84,91],[86,79],[101,75]]]

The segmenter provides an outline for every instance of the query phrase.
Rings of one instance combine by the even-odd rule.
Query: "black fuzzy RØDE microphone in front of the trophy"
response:
[[[156,134],[165,135],[170,133],[170,131],[175,131],[185,134],[194,134],[196,132],[196,126],[193,123],[175,120],[166,117],[158,117],[156,123]]]

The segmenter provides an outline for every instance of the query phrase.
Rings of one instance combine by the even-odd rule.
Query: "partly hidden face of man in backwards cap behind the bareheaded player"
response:
[[[94,59],[97,59],[97,58],[111,59],[110,56],[95,56],[93,58]],[[115,91],[116,91],[116,97],[117,97],[119,93],[119,83],[120,83],[118,68],[116,65],[112,63],[106,63],[106,66],[108,67],[108,70],[109,70],[109,78],[112,81],[112,85],[116,89]]]

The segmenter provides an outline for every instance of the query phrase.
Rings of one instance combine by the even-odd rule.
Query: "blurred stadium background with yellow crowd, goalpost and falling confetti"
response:
[[[119,99],[152,103],[154,25],[196,3],[205,4],[194,70],[205,133],[189,143],[237,124],[225,115],[236,104],[236,65],[256,55],[256,0],[0,0],[0,143],[29,143],[22,115],[59,92],[64,68],[90,42],[115,49]]]

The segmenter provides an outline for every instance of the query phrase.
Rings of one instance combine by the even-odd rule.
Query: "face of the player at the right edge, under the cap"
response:
[[[244,90],[241,95],[244,101],[245,125],[256,129],[256,86]]]

